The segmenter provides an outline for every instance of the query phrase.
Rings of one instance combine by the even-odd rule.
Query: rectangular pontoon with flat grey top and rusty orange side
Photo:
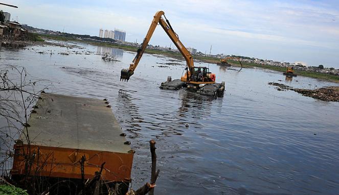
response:
[[[107,105],[98,99],[41,93],[28,119],[30,145],[22,133],[14,145],[11,174],[24,174],[32,163],[30,175],[81,179],[84,157],[85,179],[93,178],[105,162],[101,179],[129,183],[134,151]],[[25,160],[28,154],[33,162]]]

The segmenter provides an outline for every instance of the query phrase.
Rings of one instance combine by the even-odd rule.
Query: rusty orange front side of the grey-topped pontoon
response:
[[[13,175],[24,174],[25,167],[30,166],[30,163],[32,163],[32,166],[28,169],[28,174],[32,176],[81,179],[80,159],[82,156],[85,156],[85,179],[93,178],[95,172],[100,170],[101,164],[106,162],[101,179],[130,182],[133,160],[132,153],[126,154],[30,145],[30,154],[34,156],[34,160],[29,162],[25,161],[25,156],[28,154],[28,145],[15,144],[14,149],[14,163],[11,170],[11,174]]]

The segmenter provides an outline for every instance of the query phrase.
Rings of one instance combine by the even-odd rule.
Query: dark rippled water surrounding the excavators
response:
[[[217,82],[225,81],[225,96],[215,100],[159,89],[167,76],[182,76],[184,61],[145,54],[126,83],[119,81],[120,70],[135,53],[75,44],[85,48],[1,48],[0,64],[24,66],[30,78],[52,81],[48,92],[107,98],[136,151],[134,189],[150,180],[148,141],[155,139],[158,194],[339,193],[339,103],[278,91],[267,83],[283,80],[304,88],[336,84],[300,76],[288,82],[281,72],[237,72],[196,62],[209,66]],[[58,54],[67,51],[72,54]],[[119,61],[104,62],[97,55],[107,52]],[[163,64],[169,62],[178,65]]]

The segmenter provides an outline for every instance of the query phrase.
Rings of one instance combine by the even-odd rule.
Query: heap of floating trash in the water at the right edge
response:
[[[331,87],[322,87],[319,89],[298,89],[293,88],[288,85],[284,85],[281,83],[268,83],[269,85],[277,86],[277,90],[293,90],[298,93],[301,93],[304,96],[313,97],[315,99],[319,99],[322,101],[331,101],[331,102],[339,102],[339,86],[331,86]]]

